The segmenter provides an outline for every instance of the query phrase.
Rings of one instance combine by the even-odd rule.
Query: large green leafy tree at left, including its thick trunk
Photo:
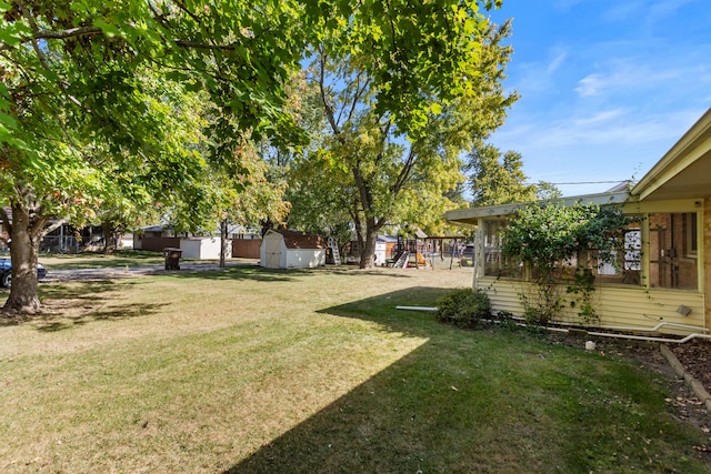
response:
[[[230,160],[246,130],[299,138],[281,104],[311,32],[303,8],[269,0],[0,4],[0,209],[11,209],[2,220],[13,261],[6,310],[39,309],[41,236],[62,220],[92,219],[110,196],[192,202],[182,218],[199,218],[204,157],[181,135],[199,124],[177,122],[176,87],[204,91],[212,104],[207,137],[216,160]]]

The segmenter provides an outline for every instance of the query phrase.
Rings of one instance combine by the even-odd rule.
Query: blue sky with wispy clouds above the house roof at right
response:
[[[642,178],[711,107],[709,0],[503,0],[509,90],[490,142],[531,182]],[[559,184],[564,195],[613,184]]]

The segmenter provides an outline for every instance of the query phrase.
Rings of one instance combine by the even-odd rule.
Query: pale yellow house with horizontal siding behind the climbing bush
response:
[[[711,330],[711,109],[630,190],[567,198],[620,204],[642,216],[625,234],[619,270],[594,269],[593,305],[600,326],[623,331],[707,334]],[[500,230],[517,208],[507,204],[450,211],[452,222],[477,226],[474,288],[494,311],[523,314],[527,272],[503,265]],[[594,266],[594,265],[593,265]],[[505,270],[504,270],[505,269]],[[507,273],[508,272],[508,273]],[[567,307],[561,322],[580,322]]]

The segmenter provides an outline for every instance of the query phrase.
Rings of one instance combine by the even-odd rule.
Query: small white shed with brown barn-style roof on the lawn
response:
[[[260,265],[268,269],[302,269],[326,265],[328,245],[319,235],[269,230],[262,238]]]

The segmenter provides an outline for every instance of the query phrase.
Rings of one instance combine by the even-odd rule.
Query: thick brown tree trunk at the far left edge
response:
[[[3,310],[17,313],[37,313],[40,310],[37,283],[37,255],[41,231],[32,226],[30,215],[21,204],[12,204],[10,259],[12,288]]]

